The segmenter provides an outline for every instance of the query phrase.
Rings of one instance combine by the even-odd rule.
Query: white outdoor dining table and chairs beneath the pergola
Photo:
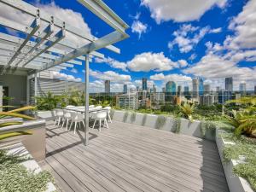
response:
[[[110,118],[111,107],[102,108],[102,106],[89,106],[90,119],[94,120],[92,129],[95,128],[96,122],[99,122],[98,130],[101,131],[102,127],[108,128],[108,121],[112,123]],[[66,108],[57,108],[55,113],[55,125],[63,128],[66,125],[66,130],[70,131],[72,126],[73,133],[76,133],[77,126],[80,127],[81,123],[84,125],[84,106],[68,105]],[[69,127],[68,127],[69,126]],[[85,125],[84,125],[85,127]]]

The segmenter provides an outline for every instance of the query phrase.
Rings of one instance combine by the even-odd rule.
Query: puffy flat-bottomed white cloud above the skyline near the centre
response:
[[[178,63],[167,58],[163,52],[144,52],[127,62],[127,67],[134,72],[169,71],[178,67]]]

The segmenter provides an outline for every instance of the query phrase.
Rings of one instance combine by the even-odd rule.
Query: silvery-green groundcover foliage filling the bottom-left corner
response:
[[[53,182],[49,172],[35,173],[26,170],[19,163],[27,158],[18,155],[9,155],[0,150],[0,191],[33,191],[43,192],[47,184]]]

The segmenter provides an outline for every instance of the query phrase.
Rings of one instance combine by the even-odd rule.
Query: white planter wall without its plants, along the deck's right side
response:
[[[227,183],[229,185],[230,192],[253,192],[253,189],[251,188],[250,184],[247,183],[247,180],[245,180],[242,177],[238,177],[233,173],[233,167],[237,165],[237,160],[230,160],[230,162],[225,162],[223,158],[223,149],[225,144],[232,144],[225,142],[222,137],[219,136],[219,133],[221,131],[218,131],[216,129],[216,144],[218,147],[218,154],[221,158],[222,166],[224,168],[225,177],[227,180]],[[235,143],[233,143],[235,144]]]

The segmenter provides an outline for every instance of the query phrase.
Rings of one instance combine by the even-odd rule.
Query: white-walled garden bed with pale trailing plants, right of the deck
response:
[[[247,180],[243,177],[239,177],[237,174],[244,174],[244,177],[246,177],[247,172],[249,174],[253,174],[253,167],[251,167],[251,171],[248,171],[248,167],[246,167],[247,164],[247,156],[243,154],[234,154],[231,148],[233,150],[236,150],[237,143],[227,139],[227,137],[224,137],[225,135],[229,135],[229,133],[216,129],[216,144],[218,147],[218,153],[221,158],[221,162],[224,168],[225,177],[227,180],[227,183],[230,188],[230,192],[253,192],[253,189],[250,185],[250,183],[247,182]],[[256,148],[256,145],[255,147]],[[245,148],[248,149],[248,148]],[[239,150],[236,150],[239,153]],[[252,154],[255,155],[255,154]],[[233,159],[234,158],[234,159]],[[256,162],[255,162],[256,163]],[[242,167],[245,166],[245,167]],[[254,168],[256,165],[254,165]],[[236,169],[234,173],[234,168]],[[255,172],[255,170],[254,170]],[[248,180],[251,180],[251,183],[254,183],[254,189],[256,189],[256,183],[255,180],[253,182],[253,179],[248,178]],[[255,179],[255,175],[254,175]]]

